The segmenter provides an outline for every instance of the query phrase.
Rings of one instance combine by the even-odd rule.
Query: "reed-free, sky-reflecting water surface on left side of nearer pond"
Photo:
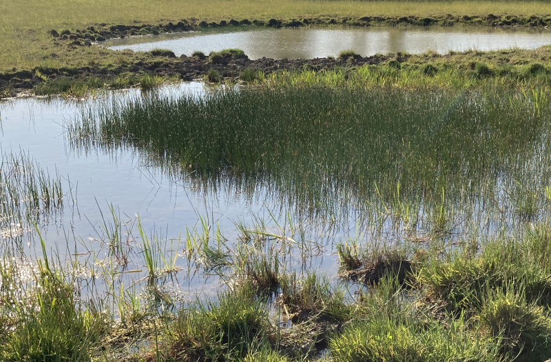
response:
[[[176,97],[178,94],[204,92],[202,83],[182,83],[180,86],[167,86],[158,91],[161,97]],[[136,229],[136,216],[139,215],[145,232],[153,239],[160,237],[161,250],[165,257],[176,258],[176,266],[183,268],[178,273],[178,281],[165,281],[168,290],[191,296],[195,294],[216,295],[218,288],[225,285],[216,273],[197,272],[186,269],[185,234],[186,228],[201,231],[200,218],[206,219],[211,228],[211,237],[220,228],[223,237],[231,243],[238,238],[234,221],[245,221],[253,225],[254,218],[270,220],[267,207],[268,192],[259,188],[253,200],[236,194],[231,185],[209,192],[191,190],[188,185],[167,177],[155,166],[144,164],[135,150],[107,151],[102,148],[76,150],[67,139],[66,125],[80,116],[81,110],[105,104],[112,99],[139,97],[139,90],[109,92],[100,99],[86,101],[63,99],[16,99],[0,103],[0,148],[4,153],[28,154],[50,175],[55,170],[61,176],[63,187],[63,210],[40,225],[46,248],[52,256],[62,261],[79,254],[79,261],[104,265],[110,262],[105,244],[103,228],[113,223],[110,205],[118,212],[121,222],[132,226],[132,235],[123,239],[133,241],[134,260],[124,270],[140,270],[125,274],[125,285],[147,275],[141,250],[141,240]],[[270,207],[273,205],[270,205]],[[278,210],[273,211],[275,214]],[[284,211],[283,211],[284,212]],[[273,229],[272,229],[273,227]],[[41,246],[33,233],[32,225],[27,225],[22,238],[0,234],[0,248],[19,245],[21,252],[32,259],[42,257]],[[273,223],[269,230],[277,233]],[[123,231],[126,226],[123,227]],[[178,254],[178,257],[176,257]],[[330,259],[324,270],[335,276],[336,256],[331,249],[322,250],[303,261],[298,268],[318,268],[322,261]],[[90,266],[91,264],[88,264]],[[166,285],[165,285],[166,286]],[[98,288],[96,286],[96,288]],[[101,288],[99,288],[101,290]]]

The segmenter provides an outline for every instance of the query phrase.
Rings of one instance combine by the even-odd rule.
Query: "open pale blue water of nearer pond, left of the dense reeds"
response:
[[[202,97],[211,90],[205,89],[202,83],[183,83],[156,92],[160,97],[183,94]],[[181,294],[182,300],[194,299],[196,294],[215,296],[220,288],[226,288],[216,272],[208,267],[207,270],[199,268],[200,272],[197,268],[187,269],[189,234],[197,241],[210,234],[211,243],[218,245],[218,241],[224,241],[227,247],[222,246],[222,252],[230,254],[231,245],[242,236],[236,224],[253,228],[258,223],[265,223],[265,231],[280,237],[285,232],[289,234],[289,217],[292,218],[295,210],[287,203],[280,203],[280,198],[271,194],[269,186],[259,185],[252,192],[242,192],[236,185],[228,183],[216,190],[200,190],[185,179],[181,180],[181,176],[170,176],[157,165],[149,165],[140,152],[132,148],[107,151],[92,147],[83,150],[79,142],[67,134],[67,126],[80,119],[82,110],[109,105],[115,99],[139,99],[140,93],[139,90],[110,92],[98,99],[81,101],[28,98],[3,102],[0,105],[1,150],[5,155],[23,154],[25,159],[48,172],[52,179],[61,181],[63,203],[37,219],[50,255],[58,255],[65,263],[79,254],[77,259],[86,265],[85,276],[90,276],[91,270],[98,266],[103,268],[114,263],[114,268],[128,273],[122,274],[124,281],[121,283],[129,285],[141,280],[147,275],[147,265],[143,257],[143,238],[138,231],[139,216],[147,235],[156,235],[159,239],[159,245],[155,247],[158,248],[157,256],[164,254],[167,259],[166,263],[163,261],[163,265],[158,265],[159,268],[171,265],[184,269],[178,273],[177,281],[168,281],[170,292]],[[3,163],[10,165],[8,157],[3,159]],[[8,170],[8,166],[3,170]],[[114,220],[112,211],[118,221]],[[274,220],[282,222],[281,226]],[[350,222],[350,228],[354,228],[355,221],[351,219]],[[42,257],[32,221],[19,222],[6,217],[2,225],[2,248],[18,250],[16,254],[25,254],[34,260]],[[337,257],[328,243],[333,240],[333,235],[350,230],[328,225],[324,219],[309,220],[304,224],[304,232],[315,230],[322,234],[319,240],[315,238],[313,246],[309,245],[315,251],[303,252],[304,258],[301,256],[300,261],[289,261],[293,268],[319,268],[333,276],[337,274]],[[314,229],[309,230],[310,227]],[[110,250],[110,232],[112,234],[117,229],[120,233],[117,238],[125,243],[125,248],[132,250],[125,257],[131,259],[127,260],[128,265],[121,265],[120,256],[113,257]],[[217,237],[218,230],[221,234]],[[278,237],[274,240],[278,241]],[[100,285],[96,288],[107,287]]]

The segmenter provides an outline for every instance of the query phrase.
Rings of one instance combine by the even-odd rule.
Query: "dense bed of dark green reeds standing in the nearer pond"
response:
[[[355,215],[422,239],[545,219],[549,107],[545,88],[227,88],[103,104],[68,133],[195,190],[266,190],[299,219]]]

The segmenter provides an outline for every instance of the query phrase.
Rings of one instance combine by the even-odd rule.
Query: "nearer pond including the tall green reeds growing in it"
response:
[[[3,102],[2,187],[24,173],[6,154],[22,152],[59,179],[63,203],[32,220],[6,209],[0,246],[43,257],[36,221],[61,261],[121,285],[174,271],[163,285],[184,299],[227,288],[254,252],[337,283],[343,241],[461,245],[548,218],[549,108],[538,90],[202,83]]]

